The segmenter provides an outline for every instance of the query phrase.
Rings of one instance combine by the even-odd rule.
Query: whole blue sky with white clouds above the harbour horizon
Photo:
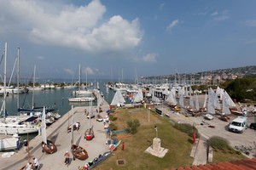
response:
[[[254,0],[0,0],[7,74],[135,79],[256,65]],[[1,63],[3,69],[3,62]]]

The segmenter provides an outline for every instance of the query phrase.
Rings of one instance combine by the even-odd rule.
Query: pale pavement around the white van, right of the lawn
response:
[[[183,114],[171,111],[168,107],[162,107],[160,109],[164,114],[169,114],[170,121],[194,125],[201,134],[201,138],[196,141],[196,144],[194,144],[193,149],[191,150],[191,155],[194,157],[193,165],[205,165],[207,163],[207,139],[210,139],[212,136],[219,136],[227,139],[232,147],[237,145],[256,147],[253,144],[253,142],[256,142],[256,132],[253,129],[247,128],[244,133],[231,133],[228,130],[230,122],[219,120],[218,115],[215,115],[213,120],[209,121],[203,116],[184,116]],[[235,115],[230,115],[230,121],[235,118]],[[249,122],[253,122],[253,116],[248,116],[248,119]],[[248,158],[256,157],[256,150],[251,150],[249,155],[245,155],[244,153],[243,155]]]

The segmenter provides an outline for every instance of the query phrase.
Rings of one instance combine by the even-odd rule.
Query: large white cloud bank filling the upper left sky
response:
[[[3,1],[0,34],[22,32],[32,42],[90,53],[136,48],[143,37],[139,20],[115,15],[102,22],[106,10],[100,0],[79,7],[61,1]]]

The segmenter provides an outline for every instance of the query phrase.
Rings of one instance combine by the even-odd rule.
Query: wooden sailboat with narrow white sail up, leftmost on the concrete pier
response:
[[[57,148],[55,146],[55,143],[52,142],[51,140],[47,139],[47,135],[46,135],[46,123],[45,123],[45,107],[43,110],[43,116],[42,116],[42,122],[41,122],[41,129],[42,129],[42,149],[44,152],[48,153],[48,154],[52,154],[54,153]]]

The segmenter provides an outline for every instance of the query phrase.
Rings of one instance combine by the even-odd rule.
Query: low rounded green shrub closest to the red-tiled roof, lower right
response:
[[[209,145],[214,149],[230,150],[229,141],[219,136],[212,136],[212,138],[209,139]]]

